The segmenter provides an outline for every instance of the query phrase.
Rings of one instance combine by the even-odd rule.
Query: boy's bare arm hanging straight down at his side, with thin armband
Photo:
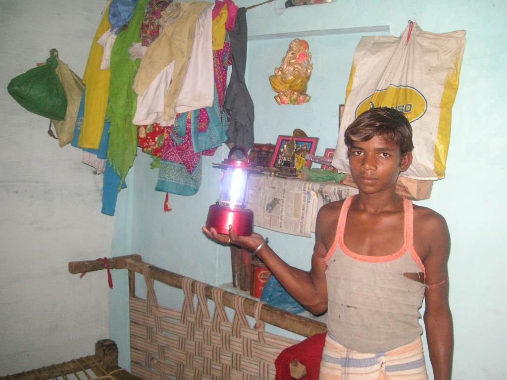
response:
[[[425,220],[423,228],[428,241],[424,324],[429,358],[435,380],[449,380],[452,373],[454,335],[449,307],[449,278],[447,261],[450,253],[449,230],[445,219],[434,213]]]

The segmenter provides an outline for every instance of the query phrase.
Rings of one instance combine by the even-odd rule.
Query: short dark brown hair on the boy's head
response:
[[[345,130],[345,145],[350,148],[353,141],[368,141],[374,136],[396,143],[402,156],[414,149],[412,126],[403,112],[393,108],[373,108],[361,113]]]

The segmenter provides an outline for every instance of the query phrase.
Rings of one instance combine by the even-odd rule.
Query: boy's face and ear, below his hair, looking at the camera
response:
[[[412,163],[412,153],[401,155],[400,146],[382,137],[368,141],[353,141],[348,149],[350,173],[365,193],[375,194],[392,187],[400,172]]]

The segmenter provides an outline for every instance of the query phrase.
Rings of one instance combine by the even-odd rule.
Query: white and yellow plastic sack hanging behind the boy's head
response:
[[[410,21],[400,38],[361,38],[332,162],[338,171],[350,173],[346,127],[370,108],[390,107],[403,111],[413,129],[414,160],[403,175],[420,180],[444,178],[465,33],[434,34]]]

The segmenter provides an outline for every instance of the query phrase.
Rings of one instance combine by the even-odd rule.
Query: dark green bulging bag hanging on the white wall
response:
[[[53,120],[63,120],[67,97],[56,74],[56,49],[46,64],[34,67],[12,79],[7,91],[26,110]]]

